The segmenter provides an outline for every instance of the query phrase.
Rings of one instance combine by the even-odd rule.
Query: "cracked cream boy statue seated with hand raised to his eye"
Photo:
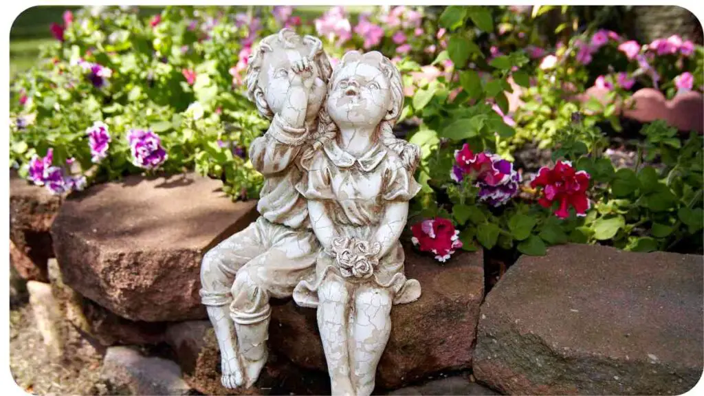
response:
[[[256,382],[267,360],[269,298],[291,297],[314,271],[320,244],[296,190],[298,161],[317,128],[331,71],[320,39],[287,29],[262,39],[249,58],[247,94],[272,120],[249,148],[265,178],[261,216],[207,252],[201,265],[201,302],[218,338],[226,388]]]

